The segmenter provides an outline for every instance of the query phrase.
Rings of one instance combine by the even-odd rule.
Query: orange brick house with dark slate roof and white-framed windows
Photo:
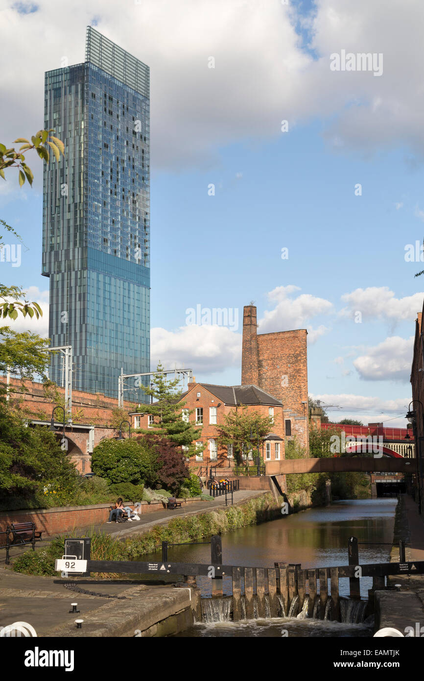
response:
[[[214,464],[220,468],[231,467],[233,452],[231,445],[218,447],[218,427],[223,424],[225,416],[233,409],[240,409],[246,405],[249,411],[255,411],[261,416],[271,416],[274,419],[272,433],[260,446],[259,453],[265,462],[267,475],[278,474],[278,461],[284,459],[284,413],[281,400],[261,390],[257,385],[210,385],[209,383],[189,383],[189,389],[181,396],[185,402],[181,408],[181,417],[193,420],[202,426],[201,435],[197,442],[206,445],[198,456],[193,457],[191,466],[203,469]],[[191,410],[193,413],[189,415]],[[184,413],[185,412],[185,413]],[[152,415],[131,413],[131,427],[148,429],[152,424]],[[253,444],[252,454],[246,453],[245,460],[252,460],[256,451]]]

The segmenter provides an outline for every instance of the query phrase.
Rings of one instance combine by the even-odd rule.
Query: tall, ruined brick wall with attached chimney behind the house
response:
[[[308,451],[306,329],[258,334],[255,305],[243,310],[242,383],[254,383],[282,401],[286,439]]]

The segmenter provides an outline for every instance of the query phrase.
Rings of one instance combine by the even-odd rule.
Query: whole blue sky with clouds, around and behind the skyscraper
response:
[[[406,54],[408,85],[399,78],[406,65],[395,61],[391,36],[398,31],[404,51],[419,54],[412,37],[422,8],[410,3],[409,14],[399,20],[399,4],[389,3],[382,22],[385,3],[376,2],[373,10],[362,1],[355,10],[344,0],[293,3],[289,10],[279,4],[271,3],[269,11],[263,5],[257,14],[252,3],[229,3],[234,19],[246,19],[240,40],[249,49],[240,61],[237,44],[225,34],[228,4],[216,5],[217,16],[204,35],[221,35],[220,30],[224,35],[216,44],[211,39],[203,54],[199,27],[206,31],[210,22],[208,5],[180,2],[199,35],[187,22],[180,24],[187,33],[180,36],[185,51],[176,53],[177,64],[175,44],[167,53],[148,37],[155,30],[157,39],[171,36],[172,20],[184,19],[184,12],[167,16],[174,5],[144,3],[150,25],[142,24],[145,41],[139,44],[135,26],[123,37],[123,18],[116,15],[114,21],[113,3],[99,14],[97,29],[152,67],[152,367],[159,359],[168,366],[184,362],[198,381],[240,383],[242,308],[255,300],[259,332],[308,329],[309,392],[343,408],[331,415],[402,425],[410,400],[411,336],[424,295],[424,281],[414,279],[424,266],[405,261],[406,244],[423,240],[423,140],[414,85],[422,59],[414,62],[412,52]],[[23,22],[22,30],[31,35],[37,24],[30,21],[54,22],[50,5],[39,3],[39,10],[27,14],[8,9],[5,18]],[[100,7],[88,5],[93,14]],[[77,3],[67,32],[55,24],[62,31],[56,52],[50,46],[34,57],[33,122],[20,119],[13,74],[7,80],[16,115],[5,122],[1,140],[41,127],[43,74],[55,67],[54,54],[66,53],[69,43],[69,63],[82,61],[88,16],[83,7]],[[351,21],[353,11],[361,31]],[[261,33],[269,35],[272,61],[263,54]],[[279,36],[285,36],[283,46]],[[383,75],[331,74],[329,54],[344,46],[384,52]],[[216,67],[208,71],[206,59],[214,52]],[[172,69],[180,77],[175,91]],[[280,130],[283,119],[289,121],[287,132]],[[37,161],[30,165],[41,176]],[[361,195],[355,195],[358,183]],[[208,194],[211,184],[214,195]],[[41,187],[18,191],[11,185],[8,180],[0,193],[1,217],[29,250],[22,247],[20,268],[0,264],[2,281],[29,288],[47,308],[48,280],[39,274]],[[288,259],[282,259],[282,248]],[[238,310],[239,328],[186,326],[186,310],[197,304]],[[361,313],[360,323],[355,313]],[[39,330],[46,333],[45,322]]]

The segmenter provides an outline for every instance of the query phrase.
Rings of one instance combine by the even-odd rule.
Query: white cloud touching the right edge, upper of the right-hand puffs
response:
[[[350,294],[341,296],[347,306],[340,310],[341,317],[353,319],[356,312],[360,312],[362,319],[383,319],[386,321],[398,321],[408,319],[414,321],[417,312],[423,307],[422,292],[395,298],[393,291],[388,286],[370,286],[366,289],[355,289]]]

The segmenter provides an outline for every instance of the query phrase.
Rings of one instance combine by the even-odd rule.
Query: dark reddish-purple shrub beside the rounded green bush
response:
[[[138,440],[146,452],[157,457],[158,484],[176,496],[184,480],[190,477],[189,469],[182,460],[180,449],[168,438],[160,437],[152,432]]]

